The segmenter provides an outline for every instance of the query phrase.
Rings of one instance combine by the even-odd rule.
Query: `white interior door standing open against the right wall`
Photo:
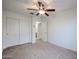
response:
[[[38,26],[38,38],[47,41],[47,22],[41,22]]]

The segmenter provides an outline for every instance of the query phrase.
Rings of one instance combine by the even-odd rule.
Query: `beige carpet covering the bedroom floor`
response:
[[[77,59],[77,53],[50,43],[38,42],[7,48],[3,51],[3,59]]]

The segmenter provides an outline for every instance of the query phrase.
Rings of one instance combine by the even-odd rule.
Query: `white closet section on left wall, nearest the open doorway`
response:
[[[20,20],[20,44],[31,42],[31,21],[23,18]]]

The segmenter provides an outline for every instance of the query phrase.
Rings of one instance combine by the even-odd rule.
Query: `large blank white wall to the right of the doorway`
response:
[[[68,9],[49,17],[48,42],[77,50],[77,10]]]

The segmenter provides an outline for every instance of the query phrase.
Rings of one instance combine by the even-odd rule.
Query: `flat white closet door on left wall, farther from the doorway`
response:
[[[7,18],[7,46],[19,44],[19,20]]]

